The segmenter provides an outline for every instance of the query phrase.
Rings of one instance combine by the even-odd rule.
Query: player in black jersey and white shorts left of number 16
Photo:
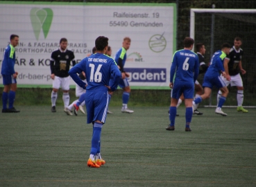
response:
[[[67,39],[60,39],[60,48],[51,53],[51,79],[53,80],[53,91],[51,92],[51,112],[56,112],[56,100],[58,97],[58,89],[62,88],[62,100],[64,102],[64,111],[69,105],[69,66],[74,60],[73,51],[67,49]]]

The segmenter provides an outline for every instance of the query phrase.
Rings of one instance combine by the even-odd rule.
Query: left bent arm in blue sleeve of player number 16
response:
[[[86,86],[85,82],[83,82],[78,77],[78,74],[81,73],[82,71],[85,71],[85,61],[83,61],[83,60],[69,70],[69,75],[74,80],[74,82],[76,82],[76,84],[78,84],[79,87],[85,89],[85,86]]]

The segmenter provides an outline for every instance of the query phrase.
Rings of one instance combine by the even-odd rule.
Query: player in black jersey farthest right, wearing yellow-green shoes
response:
[[[242,75],[246,73],[241,64],[241,59],[244,55],[244,51],[241,49],[241,38],[234,38],[234,46],[230,48],[230,54],[225,57],[224,68],[226,78],[221,76],[222,80],[225,82],[226,86],[230,84],[231,87],[237,87],[237,111],[238,112],[248,112],[247,109],[242,107],[244,102],[244,87],[243,80],[241,79],[240,72]],[[219,103],[219,98],[221,97],[221,91],[217,95],[217,103]]]

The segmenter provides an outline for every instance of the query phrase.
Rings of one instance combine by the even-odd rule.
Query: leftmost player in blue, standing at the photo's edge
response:
[[[18,35],[10,35],[10,44],[6,47],[3,53],[3,62],[1,74],[3,77],[3,109],[2,113],[17,113],[19,110],[13,107],[13,103],[15,101],[15,93],[17,90],[17,71],[15,71],[15,46],[19,44],[19,36]],[[9,102],[8,102],[9,101]],[[8,103],[8,107],[7,107]]]

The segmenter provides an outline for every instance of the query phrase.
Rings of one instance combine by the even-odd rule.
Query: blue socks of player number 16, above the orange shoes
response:
[[[96,155],[100,147],[101,143],[101,128],[103,124],[101,123],[94,123],[94,129],[93,129],[93,134],[92,134],[92,148],[91,148],[91,153]]]

